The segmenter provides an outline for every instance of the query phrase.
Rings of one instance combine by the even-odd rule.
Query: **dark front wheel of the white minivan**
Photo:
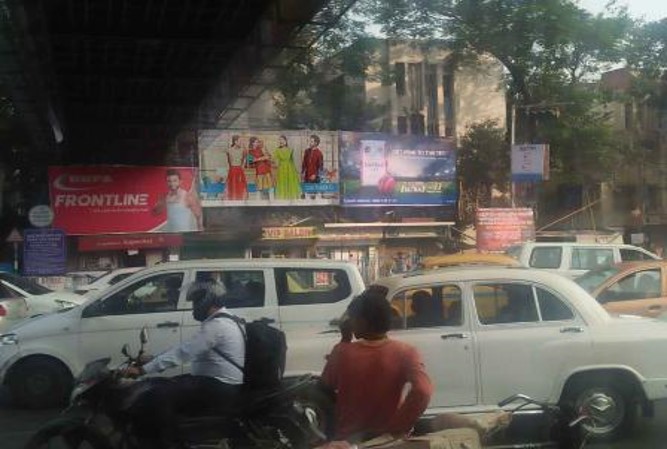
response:
[[[53,408],[66,403],[72,375],[59,361],[33,357],[19,362],[7,380],[13,402],[30,409]]]

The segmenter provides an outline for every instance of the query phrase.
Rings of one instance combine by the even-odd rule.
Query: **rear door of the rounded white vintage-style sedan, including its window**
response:
[[[592,351],[583,319],[544,285],[500,280],[470,286],[482,404],[515,393],[556,400],[559,382]]]

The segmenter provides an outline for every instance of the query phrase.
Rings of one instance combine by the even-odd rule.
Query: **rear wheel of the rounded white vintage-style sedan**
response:
[[[590,417],[582,422],[581,431],[593,441],[612,441],[627,435],[637,417],[631,388],[622,381],[581,383],[569,399],[578,414]]]

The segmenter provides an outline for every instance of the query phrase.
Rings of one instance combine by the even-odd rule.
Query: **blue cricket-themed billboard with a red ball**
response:
[[[456,152],[447,140],[342,132],[339,147],[345,205],[456,204]]]

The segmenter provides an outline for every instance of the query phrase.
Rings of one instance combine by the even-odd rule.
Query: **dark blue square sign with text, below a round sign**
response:
[[[23,232],[23,275],[59,276],[67,272],[65,233],[60,229]]]

